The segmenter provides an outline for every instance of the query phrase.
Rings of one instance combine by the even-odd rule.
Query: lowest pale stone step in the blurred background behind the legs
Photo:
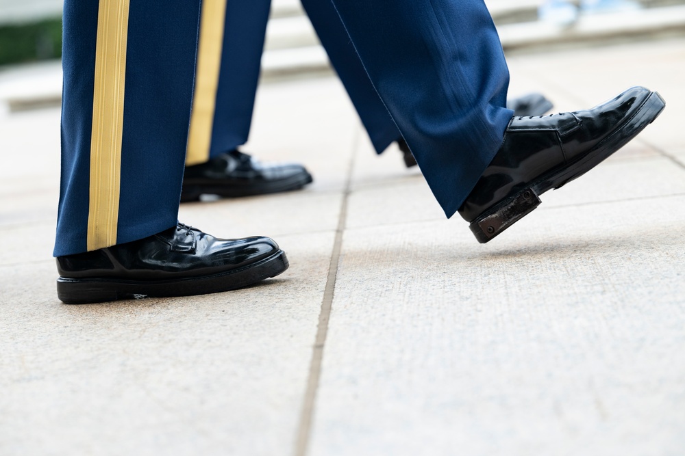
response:
[[[682,36],[685,34],[685,5],[581,16],[573,27],[536,21],[501,25],[498,30],[508,53]],[[271,21],[262,57],[262,81],[316,77],[331,72],[325,51],[305,17],[279,16]],[[0,71],[0,104],[4,104],[5,109],[9,107],[14,111],[58,104],[61,90],[62,73],[58,62]]]

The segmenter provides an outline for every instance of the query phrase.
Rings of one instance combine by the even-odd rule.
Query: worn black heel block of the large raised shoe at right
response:
[[[495,206],[493,211],[475,219],[469,228],[475,235],[475,239],[484,244],[531,213],[540,202],[540,198],[533,189],[525,189],[513,200]]]

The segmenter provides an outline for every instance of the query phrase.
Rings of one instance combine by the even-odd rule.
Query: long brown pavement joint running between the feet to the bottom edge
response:
[[[342,250],[343,234],[345,234],[345,225],[347,224],[347,204],[352,186],[352,171],[354,169],[356,146],[360,142],[360,136],[360,129],[357,127],[352,142],[353,150],[347,165],[343,200],[340,202],[340,217],[338,217],[338,228],[336,228],[336,238],[333,243],[326,288],[323,292],[323,299],[321,301],[319,324],[316,327],[316,338],[314,339],[314,345],[312,347],[312,360],[310,362],[307,390],[303,399],[302,411],[297,429],[297,440],[295,441],[295,456],[307,455],[309,439],[312,432],[312,418],[314,415],[314,407],[316,407],[316,392],[319,390],[319,381],[321,379],[323,349],[325,348],[326,336],[328,334],[328,322],[331,316],[336,280],[338,278],[340,251]]]

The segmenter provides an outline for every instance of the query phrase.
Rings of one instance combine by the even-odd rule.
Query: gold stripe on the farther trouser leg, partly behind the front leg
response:
[[[203,0],[186,165],[210,158],[225,19],[226,0]]]

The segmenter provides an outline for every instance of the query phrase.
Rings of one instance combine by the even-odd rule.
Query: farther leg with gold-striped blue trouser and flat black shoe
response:
[[[312,176],[297,163],[260,163],[247,142],[270,0],[206,0],[181,200],[300,189]]]

